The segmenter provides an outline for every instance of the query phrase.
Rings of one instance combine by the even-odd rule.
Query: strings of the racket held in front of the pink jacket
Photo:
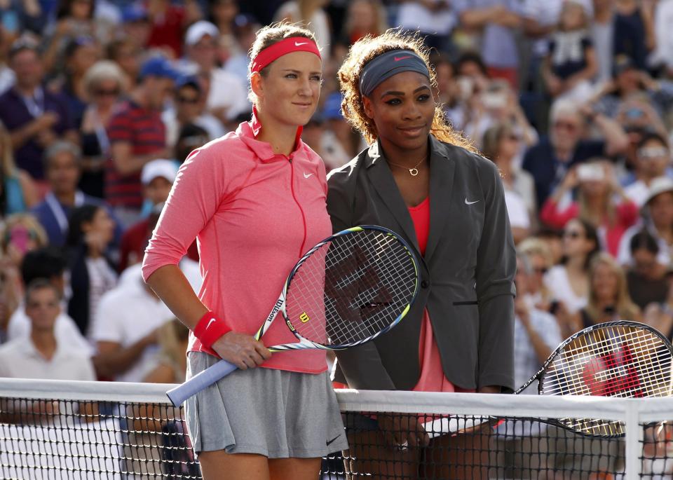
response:
[[[417,273],[393,235],[360,231],[322,245],[297,268],[286,312],[302,337],[348,345],[390,326],[414,296]]]

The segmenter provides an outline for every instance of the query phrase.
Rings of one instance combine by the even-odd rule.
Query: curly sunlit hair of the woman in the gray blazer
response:
[[[378,133],[374,121],[365,114],[365,109],[362,107],[360,74],[367,62],[390,50],[412,50],[418,54],[426,62],[430,72],[430,85],[437,86],[435,70],[430,67],[430,51],[418,34],[405,34],[397,29],[388,29],[379,36],[367,35],[353,43],[338,72],[341,94],[344,96],[344,100],[341,101],[341,111],[344,118],[365,137],[369,144],[376,141]],[[440,104],[435,106],[435,117],[430,132],[442,142],[476,151],[475,146],[467,138],[451,128]]]

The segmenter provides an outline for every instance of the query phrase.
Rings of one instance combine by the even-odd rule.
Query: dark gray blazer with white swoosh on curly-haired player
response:
[[[400,324],[337,352],[337,380],[362,390],[412,390],[428,308],[447,379],[462,388],[514,388],[516,254],[496,166],[430,135],[430,234],[423,259],[414,224],[378,143],[327,177],[334,231],[380,225],[421,260],[421,289]]]

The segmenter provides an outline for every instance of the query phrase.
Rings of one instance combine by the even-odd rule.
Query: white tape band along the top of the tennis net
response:
[[[0,397],[169,404],[163,383],[83,382],[0,378]],[[337,390],[342,411],[390,411],[539,418],[622,420],[637,411],[641,421],[673,418],[673,398],[549,397],[480,393]]]

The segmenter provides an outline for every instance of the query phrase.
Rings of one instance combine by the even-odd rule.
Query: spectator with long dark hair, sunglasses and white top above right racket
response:
[[[583,219],[573,219],[563,232],[564,261],[545,277],[545,286],[555,294],[553,310],[563,337],[574,334],[574,314],[587,305],[589,264],[599,251],[596,229]]]

